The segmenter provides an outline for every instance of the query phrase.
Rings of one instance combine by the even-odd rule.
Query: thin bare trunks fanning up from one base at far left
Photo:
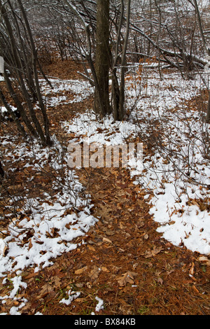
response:
[[[22,6],[22,1],[18,0],[18,3],[23,18],[23,20],[21,20],[21,25],[24,27],[26,42],[27,45],[29,45],[30,49],[28,50],[28,52],[26,52],[25,48],[27,49],[27,47],[25,47],[25,45],[23,45],[22,43],[22,36],[20,34],[20,27],[18,22],[20,18],[18,18],[18,15],[16,15],[12,3],[10,2],[10,0],[8,0],[8,6],[10,7],[9,11],[13,15],[12,17],[10,17],[10,15],[8,15],[8,6],[6,6],[6,4],[3,4],[0,0],[1,15],[5,24],[4,35],[6,36],[6,43],[9,49],[8,51],[10,51],[9,55],[7,54],[8,58],[6,58],[5,64],[6,66],[8,66],[8,69],[13,73],[16,82],[20,86],[20,93],[22,94],[22,98],[25,99],[31,120],[29,120],[29,118],[27,117],[27,113],[23,108],[22,103],[18,99],[18,95],[16,94],[13,88],[13,85],[7,75],[6,70],[3,73],[3,76],[8,85],[8,90],[10,91],[11,96],[13,97],[13,100],[15,101],[15,104],[18,107],[18,110],[20,111],[22,120],[27,125],[29,132],[35,137],[39,137],[43,144],[50,146],[52,144],[49,134],[48,116],[45,111],[45,106],[43,104],[41,90],[38,82],[38,73],[36,69],[37,57],[34,40],[31,34],[31,29],[29,27],[29,22],[27,20],[25,9]],[[15,35],[14,27],[18,31],[17,36]],[[32,67],[30,63],[32,64]],[[42,125],[36,116],[32,99],[38,99],[38,104],[43,114],[43,123],[45,131],[43,131]],[[16,124],[18,124],[18,122],[16,122]],[[18,128],[20,128],[20,126]]]

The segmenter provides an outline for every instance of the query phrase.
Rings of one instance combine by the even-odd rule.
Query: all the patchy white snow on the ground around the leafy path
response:
[[[90,85],[81,80],[53,79],[52,84],[58,94],[63,90],[73,92],[75,98],[71,103],[80,102],[93,92]],[[126,106],[127,109],[132,109],[130,120],[114,123],[110,116],[98,122],[92,109],[87,109],[71,122],[64,122],[62,125],[66,134],[76,134],[77,142],[87,141],[110,146],[123,144],[127,139],[137,136],[144,136],[148,141],[151,137],[149,125],[153,120],[159,120],[164,132],[162,143],[165,148],[157,149],[150,158],[144,158],[143,172],[141,163],[139,167],[137,165],[130,168],[130,174],[134,176],[134,184],[148,191],[145,201],[151,204],[154,221],[160,224],[158,232],[162,232],[162,236],[176,246],[184,245],[192,251],[208,255],[210,165],[204,157],[203,137],[204,134],[209,136],[210,131],[209,125],[202,122],[200,114],[197,111],[189,112],[186,106],[186,100],[200,93],[201,85],[199,78],[186,81],[172,73],[160,80],[158,73],[149,71],[141,83],[137,80],[127,80]],[[60,95],[52,98],[47,85],[43,84],[43,90],[51,106],[59,102]],[[173,111],[175,107],[177,109]],[[143,144],[147,141],[143,140]],[[74,139],[69,141],[74,142]],[[8,154],[8,146],[11,143],[13,139],[10,137],[1,137],[8,161],[22,159],[26,162],[26,168],[30,167],[31,163],[37,170],[49,162],[55,169],[63,165],[59,157],[49,160],[51,151],[38,146],[38,143],[31,148],[22,144],[13,154]],[[59,153],[56,137],[55,147]],[[13,298],[18,288],[26,288],[21,277],[25,267],[35,265],[35,271],[38,271],[41,265],[51,265],[52,258],[76,248],[77,244],[71,241],[85,235],[97,222],[97,219],[90,215],[91,200],[87,202],[80,198],[83,186],[75,172],[69,173],[66,167],[64,171],[66,183],[62,184],[59,179],[55,181],[55,186],[62,184],[62,190],[58,190],[53,200],[47,192],[44,202],[38,199],[25,200],[22,213],[27,209],[30,209],[31,213],[21,221],[18,218],[13,219],[8,231],[4,232],[6,237],[1,236],[0,276],[6,281],[9,272],[16,272],[16,276],[11,279],[14,288],[10,295],[1,297],[1,302],[5,302],[6,298]],[[71,194],[69,190],[74,192]],[[78,214],[67,214],[66,205],[82,210]],[[33,235],[26,239],[29,232],[33,232]],[[76,296],[69,292],[69,302],[74,297]],[[22,306],[25,302],[26,300],[22,299]],[[99,304],[102,307],[101,300]],[[13,308],[10,314],[17,314],[20,309],[21,307]]]

